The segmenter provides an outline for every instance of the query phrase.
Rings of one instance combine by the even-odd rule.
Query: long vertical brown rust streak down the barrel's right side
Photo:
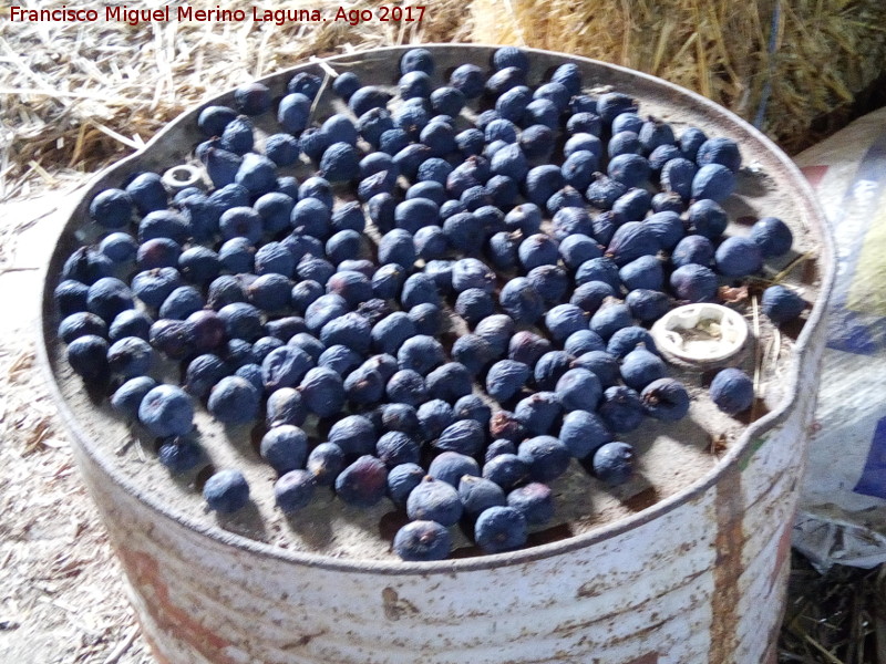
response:
[[[723,474],[717,484],[714,498],[717,516],[717,562],[713,569],[713,596],[711,649],[708,662],[725,664],[733,662],[738,647],[739,579],[742,569],[743,500],[741,474],[734,468]]]

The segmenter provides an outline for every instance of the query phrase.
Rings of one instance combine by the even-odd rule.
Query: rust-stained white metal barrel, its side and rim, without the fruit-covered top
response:
[[[441,60],[487,62],[491,49],[436,46]],[[331,59],[371,81],[402,49]],[[533,52],[537,66],[564,56]],[[185,513],[121,473],[101,417],[54,340],[55,274],[99,189],[182,158],[195,113],[102,174],[49,268],[41,347],[75,456],[159,662],[169,664],[760,664],[775,662],[790,532],[823,349],[832,246],[793,164],[761,134],[698,95],[579,58],[585,81],[682,107],[742,144],[772,214],[815,253],[817,302],[795,340],[780,398],[741,429],[710,471],[636,513],[516,552],[433,563],[332,558],[255,541]],[[295,71],[295,70],[293,70]],[[281,90],[293,71],[268,83]],[[707,123],[707,124],[705,124]],[[754,209],[761,195],[743,193]],[[100,417],[96,422],[95,417]],[[100,432],[96,434],[96,432]]]

